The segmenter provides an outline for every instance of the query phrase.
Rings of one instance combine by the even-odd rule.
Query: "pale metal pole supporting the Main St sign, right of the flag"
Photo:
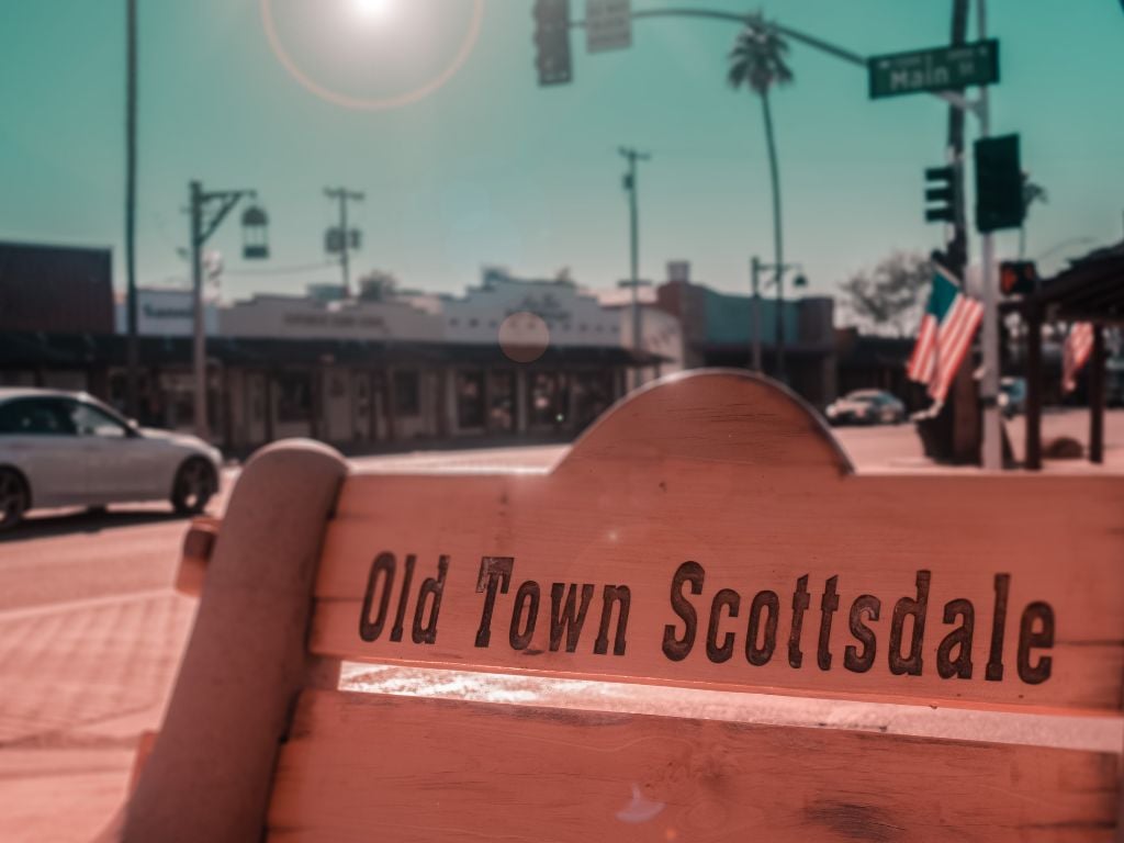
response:
[[[978,0],[977,29],[979,38],[987,38],[986,0]],[[976,116],[980,120],[980,137],[985,138],[991,130],[990,108],[988,103],[988,87],[980,85]],[[980,382],[980,404],[984,406],[984,468],[999,470],[1003,468],[1003,423],[999,418],[999,314],[998,314],[998,279],[995,272],[995,236],[991,232],[984,233],[980,246],[980,273],[984,283],[984,333],[980,337],[984,357],[984,379]]]

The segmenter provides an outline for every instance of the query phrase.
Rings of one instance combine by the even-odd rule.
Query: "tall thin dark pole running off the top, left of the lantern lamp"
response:
[[[128,341],[125,346],[125,409],[137,417],[137,0],[126,0],[125,69],[125,318]]]

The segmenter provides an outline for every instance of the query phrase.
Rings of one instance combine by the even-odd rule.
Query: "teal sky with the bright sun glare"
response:
[[[580,16],[582,0],[571,4]],[[945,43],[951,4],[633,0],[760,8],[862,55]],[[356,275],[461,292],[500,265],[610,288],[628,274],[622,145],[652,153],[638,180],[642,278],[688,260],[695,280],[745,292],[750,256],[771,260],[761,109],[725,83],[734,24],[640,20],[631,48],[595,55],[574,31],[573,82],[540,88],[531,0],[138,7],[142,285],[187,283],[178,250],[188,182],[200,179],[255,189],[270,217],[268,261],[241,257],[245,206],[208,242],[227,299],[338,280],[324,252],[329,185],[365,193],[352,210]],[[990,0],[987,12],[1001,44],[991,130],[1021,134],[1023,166],[1049,192],[1027,255],[1046,254],[1050,271],[1124,236],[1124,10]],[[809,292],[834,294],[895,250],[940,247],[923,171],[943,163],[946,107],[925,94],[871,101],[861,67],[798,44],[789,62],[795,82],[773,96],[786,260]],[[123,289],[124,129],[125,0],[0,0],[0,239],[110,247]],[[1001,234],[999,255],[1016,244]]]

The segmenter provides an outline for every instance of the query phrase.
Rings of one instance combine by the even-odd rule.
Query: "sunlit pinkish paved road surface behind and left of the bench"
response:
[[[1085,414],[1058,414],[1046,417],[1045,432],[1084,441],[1086,426]],[[925,468],[908,425],[837,435],[859,471]],[[1124,414],[1111,414],[1107,441],[1109,461],[1124,470]],[[534,446],[354,463],[545,471],[564,452]],[[236,474],[226,472],[215,514]],[[89,841],[124,800],[137,736],[160,723],[194,611],[193,600],[170,590],[185,527],[166,507],[127,506],[38,515],[0,542],[0,840]],[[356,681],[375,673],[365,668]],[[457,680],[455,692],[471,692],[473,681]],[[783,720],[769,706],[756,716]]]

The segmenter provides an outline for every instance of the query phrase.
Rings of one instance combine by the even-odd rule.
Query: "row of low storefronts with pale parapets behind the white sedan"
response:
[[[142,424],[192,429],[191,312],[188,291],[138,291]],[[124,409],[124,302],[116,316],[116,333],[6,332],[0,383],[84,389]],[[461,297],[255,296],[208,303],[205,324],[210,436],[236,454],[289,436],[345,452],[568,439],[624,395],[626,371],[655,361],[623,346],[619,311],[572,282],[498,270]]]

